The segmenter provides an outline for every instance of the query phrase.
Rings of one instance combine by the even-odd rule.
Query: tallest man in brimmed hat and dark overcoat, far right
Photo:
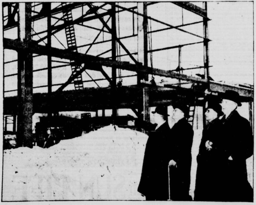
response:
[[[225,162],[225,198],[223,201],[252,202],[253,189],[247,180],[246,159],[252,156],[254,139],[247,119],[241,117],[236,108],[241,106],[240,96],[235,91],[222,95],[223,146]]]

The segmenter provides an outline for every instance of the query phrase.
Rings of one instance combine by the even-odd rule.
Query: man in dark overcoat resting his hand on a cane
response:
[[[170,149],[170,198],[173,201],[190,201],[191,147],[194,131],[187,122],[189,108],[179,102],[173,105],[175,124],[169,137]]]

